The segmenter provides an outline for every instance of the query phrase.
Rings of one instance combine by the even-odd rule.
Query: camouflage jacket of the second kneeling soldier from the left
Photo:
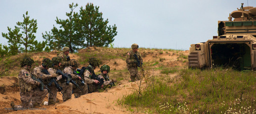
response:
[[[40,78],[42,79],[42,81],[46,84],[46,83],[49,83],[50,79],[53,77],[52,75],[47,75],[45,73],[42,73],[41,71],[44,70],[45,68],[39,66],[39,67],[36,67],[34,68],[33,70],[33,75],[36,77],[36,78]],[[49,72],[49,71],[48,71]],[[50,72],[49,72],[50,73]],[[55,76],[56,77],[56,76]]]

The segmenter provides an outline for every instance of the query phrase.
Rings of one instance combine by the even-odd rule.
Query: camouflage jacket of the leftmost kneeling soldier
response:
[[[36,88],[36,81],[31,78],[31,73],[27,70],[22,68],[19,72],[19,85],[20,85],[20,92],[31,91],[33,88]]]

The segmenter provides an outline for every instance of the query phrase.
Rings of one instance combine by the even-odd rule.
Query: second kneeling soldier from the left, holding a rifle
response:
[[[36,67],[36,68],[34,68],[34,70],[33,70],[33,74],[34,74],[34,76],[36,77],[36,78],[40,78],[40,79],[42,79],[42,81],[44,82],[44,84],[49,84],[50,83],[50,79],[51,78],[54,78],[54,77],[57,77],[57,75],[56,74],[46,74],[46,73],[44,73],[44,72],[42,72],[42,71],[47,71],[49,68],[51,68],[53,66],[53,64],[52,64],[52,61],[50,60],[50,59],[48,59],[48,58],[45,58],[44,60],[42,60],[42,65],[40,65],[40,66],[38,66],[38,67]],[[49,87],[50,88],[50,87]],[[51,92],[52,93],[57,93],[57,88],[50,88],[50,90],[51,90]],[[52,94],[52,93],[50,93],[50,94]],[[49,95],[50,96],[50,95]],[[52,104],[53,103],[53,98],[50,98],[49,97],[49,99],[48,99],[48,104],[50,105],[50,104]]]

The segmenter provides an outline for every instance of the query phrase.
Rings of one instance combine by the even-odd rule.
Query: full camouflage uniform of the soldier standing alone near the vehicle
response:
[[[134,44],[132,45],[132,48],[134,49]],[[141,56],[140,52],[138,52],[138,51],[134,52],[133,50],[130,50],[129,52],[127,52],[127,54],[126,54],[126,64],[127,64],[126,67],[127,67],[128,71],[131,74],[131,81],[132,82],[134,82],[136,80],[140,80],[140,75],[138,74],[138,67],[137,67],[137,63],[136,63],[137,60],[134,57],[134,54],[137,54],[139,61],[142,63],[142,56]]]

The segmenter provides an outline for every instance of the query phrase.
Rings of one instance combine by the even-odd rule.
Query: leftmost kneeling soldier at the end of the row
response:
[[[38,86],[40,83],[31,78],[32,74],[30,69],[32,63],[34,63],[34,61],[27,57],[21,61],[22,69],[18,76],[21,105],[14,105],[14,102],[11,102],[11,106],[15,110],[40,106],[42,100],[44,100],[48,93],[47,89],[40,91]]]

